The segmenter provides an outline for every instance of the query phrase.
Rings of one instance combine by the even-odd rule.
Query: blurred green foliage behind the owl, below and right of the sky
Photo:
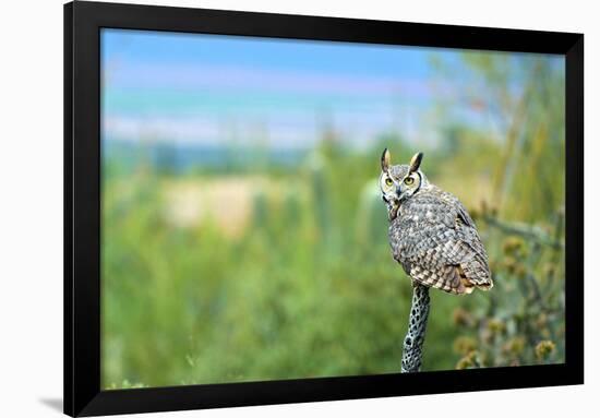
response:
[[[515,99],[513,67],[465,62],[499,104],[501,140],[441,106],[447,141],[422,150],[422,168],[472,213],[495,286],[431,292],[423,370],[561,362],[562,72],[517,67],[528,82]],[[376,179],[384,146],[394,163],[416,150],[394,133],[362,151],[323,136],[289,168],[104,160],[104,387],[398,372],[411,284],[392,260]]]

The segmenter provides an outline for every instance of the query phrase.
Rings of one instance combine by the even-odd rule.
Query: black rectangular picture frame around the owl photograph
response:
[[[101,27],[564,56],[566,357],[562,365],[100,390]],[[64,5],[64,413],[95,416],[584,382],[584,35],[75,1]]]

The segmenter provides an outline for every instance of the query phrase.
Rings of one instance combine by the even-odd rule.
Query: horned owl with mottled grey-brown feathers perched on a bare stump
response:
[[[423,154],[408,165],[381,158],[380,187],[389,217],[394,259],[420,285],[451,294],[470,294],[493,286],[488,254],[465,206],[429,182],[420,170]]]

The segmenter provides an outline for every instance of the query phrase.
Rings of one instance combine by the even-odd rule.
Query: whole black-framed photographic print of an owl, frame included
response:
[[[583,383],[580,34],[64,5],[64,411]]]

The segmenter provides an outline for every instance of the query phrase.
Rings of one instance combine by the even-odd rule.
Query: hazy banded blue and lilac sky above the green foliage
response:
[[[442,76],[432,58],[460,61],[449,49],[103,29],[103,135],[302,147],[326,124],[356,145],[389,131],[435,141],[435,106],[477,81]]]

